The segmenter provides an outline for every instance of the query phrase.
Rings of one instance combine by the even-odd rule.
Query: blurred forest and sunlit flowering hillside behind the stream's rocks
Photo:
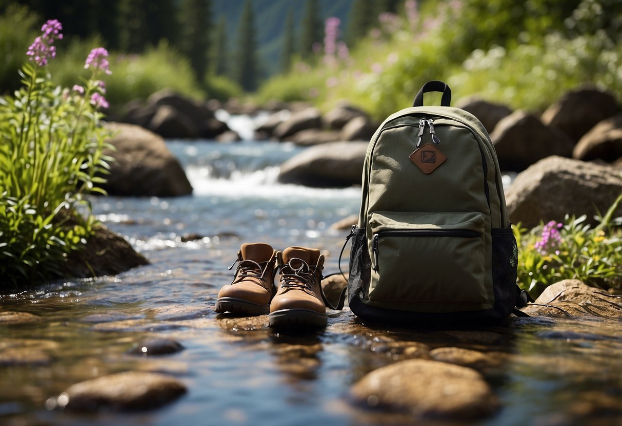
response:
[[[65,40],[50,71],[71,86],[89,47],[111,52],[111,109],[169,87],[197,99],[341,99],[381,119],[428,79],[459,97],[542,109],[593,84],[622,99],[616,0],[0,1],[0,93],[46,19]]]

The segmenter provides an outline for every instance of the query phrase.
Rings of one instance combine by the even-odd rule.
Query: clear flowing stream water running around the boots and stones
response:
[[[150,265],[0,295],[0,314],[36,315],[0,327],[0,424],[411,424],[404,414],[363,409],[348,392],[419,344],[496,356],[480,371],[503,407],[476,422],[424,424],[621,424],[616,321],[512,319],[487,329],[407,330],[366,327],[346,310],[332,311],[325,330],[284,334],[261,319],[216,315],[215,296],[230,283],[227,266],[243,242],[317,247],[327,256],[325,271],[337,271],[347,232],[331,225],[358,212],[360,189],[276,183],[279,165],[302,149],[287,143],[168,145],[192,196],[95,201],[100,220]],[[128,352],[149,337],[172,338],[184,349]],[[129,370],[170,374],[188,391],[160,409],[129,413],[80,414],[55,403],[72,384]]]

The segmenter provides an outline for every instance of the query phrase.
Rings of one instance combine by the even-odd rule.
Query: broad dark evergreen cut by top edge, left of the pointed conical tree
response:
[[[183,0],[180,24],[182,39],[180,49],[188,59],[199,82],[205,79],[210,50],[210,0]]]

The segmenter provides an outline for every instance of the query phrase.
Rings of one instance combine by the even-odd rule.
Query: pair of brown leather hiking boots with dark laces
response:
[[[325,327],[326,307],[340,308],[330,304],[322,290],[324,256],[317,248],[289,247],[277,252],[266,243],[244,243],[233,265],[236,262],[233,282],[218,292],[218,313],[269,314],[271,327]],[[277,288],[274,279],[279,272]]]

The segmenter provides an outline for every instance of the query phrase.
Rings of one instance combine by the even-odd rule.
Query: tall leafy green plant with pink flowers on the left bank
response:
[[[86,243],[95,219],[78,210],[90,208],[85,194],[104,193],[112,160],[102,154],[109,134],[98,112],[108,103],[98,79],[110,73],[108,52],[91,50],[83,85],[55,86],[46,65],[60,30],[57,20],[44,24],[19,71],[23,87],[0,97],[0,284],[49,278]]]

